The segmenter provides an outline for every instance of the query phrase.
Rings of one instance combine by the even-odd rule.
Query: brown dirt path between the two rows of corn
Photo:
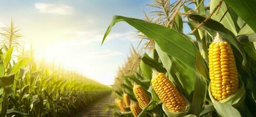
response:
[[[107,117],[111,116],[112,110],[103,112],[104,106],[113,104],[114,98],[111,97],[111,94],[105,95],[102,98],[99,98],[94,102],[94,104],[89,105],[87,108],[82,110],[77,117]]]

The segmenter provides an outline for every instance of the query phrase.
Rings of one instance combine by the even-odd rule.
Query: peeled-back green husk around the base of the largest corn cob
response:
[[[245,99],[244,84],[241,83],[241,87],[230,97],[218,102],[212,97],[211,84],[209,85],[208,92],[214,105],[214,108],[221,116],[241,117],[240,112],[236,109],[242,105]]]

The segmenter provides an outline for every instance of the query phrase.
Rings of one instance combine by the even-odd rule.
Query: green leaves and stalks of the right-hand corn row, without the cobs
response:
[[[104,43],[117,22],[126,22],[135,27],[145,35],[145,39],[154,42],[154,51],[152,58],[148,53],[142,56],[140,70],[145,78],[127,78],[125,81],[131,82],[130,85],[125,85],[125,88],[132,87],[132,82],[145,85],[142,81],[148,79],[148,67],[151,67],[167,73],[169,80],[190,104],[185,112],[181,112],[182,114],[169,112],[149,85],[146,90],[151,97],[151,103],[156,106],[154,109],[143,109],[140,116],[256,116],[252,109],[256,108],[256,2],[211,1],[210,6],[205,6],[204,1],[200,0],[189,2],[195,4],[196,9],[184,5],[187,2],[178,1],[170,4],[168,0],[156,0],[155,4],[150,6],[160,8],[162,11],[154,12],[157,13],[155,19],[146,15],[147,21],[114,16],[102,39]],[[185,13],[180,9],[181,6]],[[188,19],[185,21],[182,16]],[[188,35],[183,33],[184,23],[192,30]],[[207,49],[217,33],[231,44],[241,82],[240,89],[235,94],[220,102],[211,96],[208,74]],[[131,91],[129,94],[133,95]]]

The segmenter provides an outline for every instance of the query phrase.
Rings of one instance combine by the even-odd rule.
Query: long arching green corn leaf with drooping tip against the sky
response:
[[[194,46],[188,37],[182,35],[174,29],[145,22],[144,20],[127,18],[124,16],[114,16],[104,35],[102,44],[115,23],[120,21],[127,22],[129,25],[134,26],[140,32],[144,33],[144,35],[146,35],[149,39],[155,40],[162,51],[165,51],[179,62],[184,63],[184,65],[189,69],[195,70]]]

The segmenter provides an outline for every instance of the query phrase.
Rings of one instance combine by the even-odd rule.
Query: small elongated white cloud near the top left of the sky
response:
[[[42,2],[36,3],[35,8],[38,9],[40,13],[55,13],[59,15],[69,15],[74,11],[71,6],[46,4]]]

